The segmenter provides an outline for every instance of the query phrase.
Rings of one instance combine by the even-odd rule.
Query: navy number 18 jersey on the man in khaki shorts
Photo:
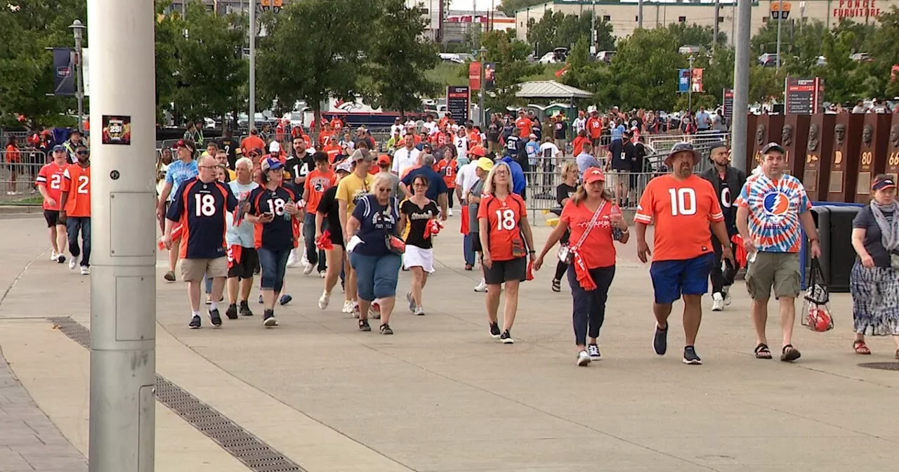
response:
[[[227,254],[226,214],[237,199],[225,183],[199,178],[182,183],[165,218],[182,224],[181,258],[216,259]]]

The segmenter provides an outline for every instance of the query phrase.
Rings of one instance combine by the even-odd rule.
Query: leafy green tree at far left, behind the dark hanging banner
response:
[[[67,110],[73,97],[47,96],[53,92],[53,54],[45,48],[72,48],[68,25],[87,19],[85,0],[4,2],[0,8],[0,126],[21,126],[17,114],[31,128],[38,125],[73,125]],[[87,40],[83,45],[88,46]]]

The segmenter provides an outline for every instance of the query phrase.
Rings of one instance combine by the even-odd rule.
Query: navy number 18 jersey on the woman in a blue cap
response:
[[[255,225],[254,242],[257,249],[264,247],[280,251],[294,247],[294,218],[287,218],[284,212],[284,206],[289,201],[296,203],[297,194],[286,187],[275,190],[259,187],[250,192],[250,213],[257,217],[264,213],[274,215],[270,222]]]

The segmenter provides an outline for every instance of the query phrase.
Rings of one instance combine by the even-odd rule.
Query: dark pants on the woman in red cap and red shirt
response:
[[[568,285],[571,286],[572,322],[574,324],[574,343],[587,343],[587,332],[590,337],[600,337],[600,328],[606,317],[606,299],[609,298],[609,287],[615,278],[615,266],[588,269],[596,289],[587,291],[577,281],[574,265],[568,268]]]

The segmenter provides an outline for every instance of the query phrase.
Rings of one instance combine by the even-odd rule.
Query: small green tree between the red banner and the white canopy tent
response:
[[[543,70],[542,65],[528,62],[528,44],[515,40],[513,34],[514,31],[488,31],[481,37],[481,43],[487,49],[485,62],[496,63],[496,88],[485,95],[484,104],[492,110],[524,104],[524,100],[515,96],[521,90],[521,79]]]

